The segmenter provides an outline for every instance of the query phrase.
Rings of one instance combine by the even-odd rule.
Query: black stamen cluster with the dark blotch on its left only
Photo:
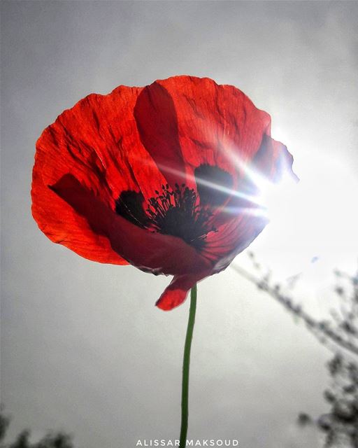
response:
[[[162,186],[162,192],[155,190],[155,194],[144,209],[141,193],[124,191],[115,202],[115,211],[141,228],[173,235],[197,249],[203,248],[208,232],[216,231],[210,225],[210,207],[200,206],[195,191],[184,183],[176,183],[175,190],[167,184]]]

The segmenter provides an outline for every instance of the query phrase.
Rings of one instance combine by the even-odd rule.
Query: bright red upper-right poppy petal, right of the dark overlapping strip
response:
[[[154,90],[156,84],[164,87],[173,101],[185,165],[192,169],[219,167],[233,176],[235,188],[241,164],[257,152],[270,116],[241,90],[217,85],[209,78],[176,76],[156,81],[148,89]]]

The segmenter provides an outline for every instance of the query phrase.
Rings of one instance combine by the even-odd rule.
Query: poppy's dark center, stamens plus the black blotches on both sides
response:
[[[155,196],[145,204],[141,193],[127,190],[115,201],[115,211],[143,229],[179,237],[201,249],[208,233],[216,232],[211,223],[213,207],[229,197],[232,178],[211,165],[200,165],[194,175],[199,194],[185,183],[181,186],[176,183],[175,190],[166,184],[160,193],[155,190]]]

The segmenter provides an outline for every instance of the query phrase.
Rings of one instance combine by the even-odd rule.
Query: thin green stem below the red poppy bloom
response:
[[[187,321],[187,335],[185,337],[184,358],[182,360],[182,421],[180,426],[179,448],[185,448],[187,444],[187,417],[189,396],[189,365],[190,349],[192,347],[193,330],[196,312],[196,285],[190,291],[189,319]]]

